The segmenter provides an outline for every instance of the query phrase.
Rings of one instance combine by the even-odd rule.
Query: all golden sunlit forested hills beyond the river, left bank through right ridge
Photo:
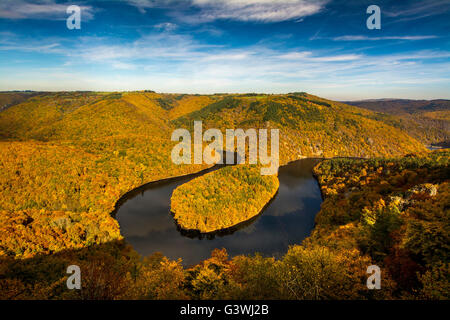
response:
[[[7,230],[24,228],[21,219],[14,219],[17,212],[33,220],[24,225],[32,230],[23,232],[41,238],[26,237],[2,250],[29,256],[117,238],[118,226],[108,214],[121,195],[146,182],[206,167],[175,165],[170,158],[176,144],[170,140],[171,133],[192,126],[193,120],[204,120],[204,129],[279,128],[282,163],[302,156],[423,150],[403,132],[367,119],[364,113],[371,111],[306,94],[60,92],[34,96],[0,112],[0,210],[4,210],[1,224]],[[51,217],[54,213],[60,219],[64,212],[70,221],[84,222],[71,229],[73,240],[59,241],[51,230],[64,225]],[[102,217],[109,236],[88,227],[89,215],[92,221]],[[20,234],[15,238],[20,239]]]

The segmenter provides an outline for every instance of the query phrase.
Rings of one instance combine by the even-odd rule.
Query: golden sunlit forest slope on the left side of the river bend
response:
[[[167,111],[147,93],[35,97],[1,112],[0,128],[0,228],[13,233],[0,255],[118,239],[110,212],[121,195],[205,167],[170,161]]]

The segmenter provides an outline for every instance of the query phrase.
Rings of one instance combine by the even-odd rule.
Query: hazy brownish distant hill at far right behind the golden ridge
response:
[[[392,115],[379,115],[379,120],[425,144],[450,147],[450,100],[372,99],[345,103]]]

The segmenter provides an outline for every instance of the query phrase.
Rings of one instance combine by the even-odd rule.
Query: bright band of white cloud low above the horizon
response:
[[[1,72],[12,76],[8,77],[9,84],[0,80],[0,88],[150,88],[186,93],[300,90],[356,99],[357,94],[361,97],[375,91],[383,94],[383,90],[394,87],[402,90],[414,87],[409,89],[410,92],[419,95],[428,84],[433,84],[429,90],[450,85],[447,72],[450,53],[446,51],[366,56],[348,51],[337,54],[335,50],[325,49],[276,48],[266,43],[239,49],[205,45],[189,35],[168,32],[146,35],[126,43],[86,37],[75,46],[73,43],[68,45],[63,39],[16,39],[15,42],[9,39],[7,44],[0,43],[0,50],[38,50],[50,57],[58,57],[54,61],[60,61],[60,64],[56,64],[53,72],[49,66],[43,66],[47,69],[35,66],[22,70],[13,63],[11,67],[3,65]],[[130,70],[132,72],[128,72]]]

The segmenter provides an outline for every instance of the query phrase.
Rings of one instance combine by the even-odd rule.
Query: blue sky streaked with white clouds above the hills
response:
[[[448,99],[450,1],[1,0],[0,74],[0,90]]]

